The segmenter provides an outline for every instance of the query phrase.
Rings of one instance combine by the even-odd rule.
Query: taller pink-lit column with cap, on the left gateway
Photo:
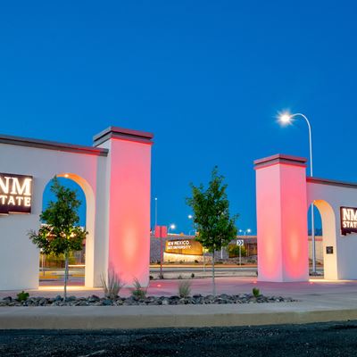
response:
[[[127,286],[147,286],[150,262],[151,141],[137,130],[109,128],[95,144],[109,149],[108,270]]]

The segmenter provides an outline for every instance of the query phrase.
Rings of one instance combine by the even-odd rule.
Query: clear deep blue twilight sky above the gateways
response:
[[[357,180],[356,16],[353,0],[3,2],[0,132],[152,131],[160,224],[190,229],[189,182],[218,165],[255,230],[253,160],[308,155],[303,120],[278,111],[310,118],[315,176]]]

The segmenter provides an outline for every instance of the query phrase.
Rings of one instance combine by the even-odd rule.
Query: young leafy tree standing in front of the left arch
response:
[[[67,298],[68,261],[71,252],[80,251],[87,232],[78,226],[80,201],[77,192],[63,187],[58,179],[52,180],[51,192],[56,200],[50,201],[40,215],[43,222],[38,232],[29,231],[29,239],[44,254],[64,254],[64,300]]]

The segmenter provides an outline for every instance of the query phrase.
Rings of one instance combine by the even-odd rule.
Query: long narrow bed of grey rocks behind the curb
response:
[[[184,305],[184,304],[222,304],[222,303],[292,303],[294,299],[282,296],[265,296],[258,297],[252,294],[240,295],[193,295],[188,297],[179,296],[147,296],[143,299],[137,299],[132,296],[120,297],[114,299],[98,297],[91,295],[88,297],[70,296],[63,301],[61,295],[56,297],[29,297],[25,301],[18,301],[11,296],[4,297],[0,300],[0,306],[129,306],[129,305]]]

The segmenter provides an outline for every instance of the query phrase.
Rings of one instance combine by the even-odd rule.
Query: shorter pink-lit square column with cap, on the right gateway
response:
[[[306,159],[277,154],[254,164],[258,280],[307,281]]]

